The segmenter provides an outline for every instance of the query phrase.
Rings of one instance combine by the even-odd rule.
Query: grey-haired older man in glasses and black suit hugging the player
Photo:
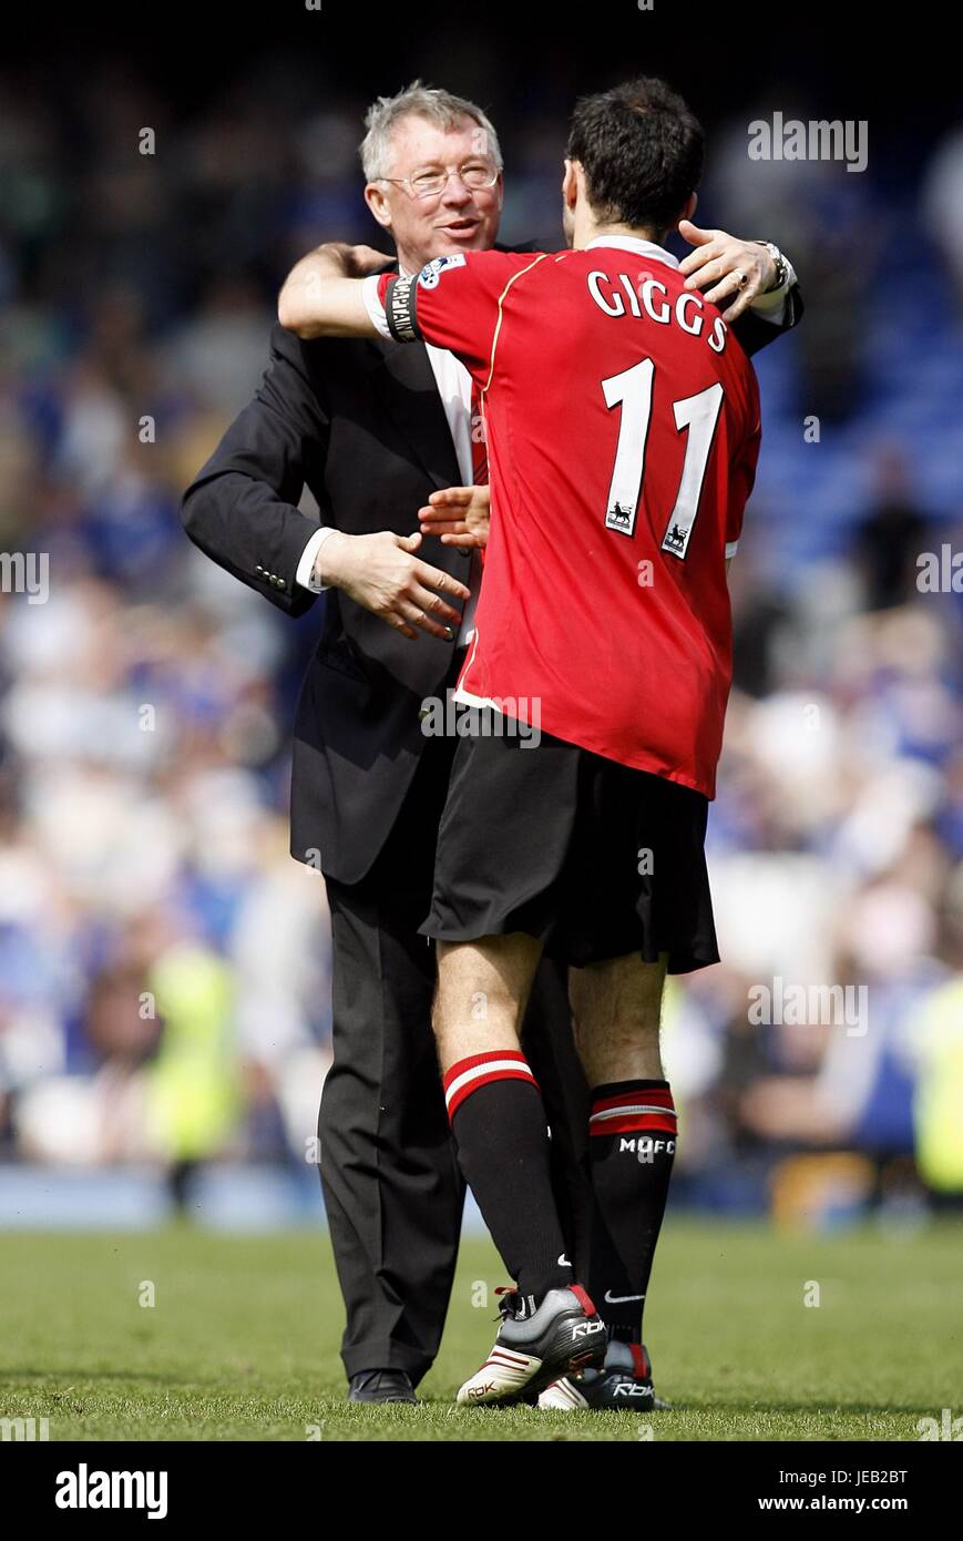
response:
[[[367,129],[365,200],[402,271],[495,243],[502,160],[479,108],[416,83],[379,99]],[[738,288],[747,350],[795,324],[797,291],[764,243],[713,233],[698,260],[700,287]],[[428,556],[411,530],[433,492],[484,479],[475,421],[468,374],[441,350],[299,341],[276,327],[254,399],[183,502],[191,539],[287,613],[325,592],[294,724],[291,854],[320,868],[331,911],[320,1177],[354,1401],[414,1399],[441,1341],[461,1228],[464,1182],[430,1028],[435,957],[418,934],[455,740],[425,737],[422,715],[458,675],[481,564],[438,539]],[[320,527],[297,509],[305,485]],[[581,1251],[586,1091],[570,1036],[550,1031],[567,1009],[561,971],[547,963],[527,1048],[552,1117],[570,1248]]]

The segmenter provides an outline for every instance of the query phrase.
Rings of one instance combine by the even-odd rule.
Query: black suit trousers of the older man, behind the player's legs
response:
[[[464,1179],[431,1034],[435,945],[418,935],[456,740],[428,738],[371,871],[327,878],[333,932],[333,1051],[320,1116],[320,1180],[347,1305],[342,1359],[359,1370],[428,1370],[445,1322]],[[552,1125],[556,1202],[576,1271],[587,1253],[587,1089],[565,979],[545,960],[524,1046]]]

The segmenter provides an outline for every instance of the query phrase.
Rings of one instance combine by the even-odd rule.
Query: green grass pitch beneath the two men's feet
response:
[[[344,1402],[320,1233],[3,1233],[0,1277],[0,1418],[46,1418],[49,1439],[915,1441],[920,1418],[955,1416],[963,1384],[952,1225],[786,1237],[667,1224],[646,1339],[675,1407],[649,1419],[453,1405],[504,1282],[478,1237],[419,1407]]]

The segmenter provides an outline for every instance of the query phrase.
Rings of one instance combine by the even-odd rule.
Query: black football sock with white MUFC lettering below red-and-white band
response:
[[[643,1310],[675,1159],[675,1105],[667,1080],[596,1086],[589,1167],[596,1217],[589,1293],[609,1336],[643,1341]]]

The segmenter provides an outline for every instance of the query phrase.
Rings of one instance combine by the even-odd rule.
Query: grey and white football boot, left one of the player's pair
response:
[[[579,1285],[532,1294],[505,1291],[502,1324],[492,1353],[458,1392],[459,1402],[528,1401],[561,1375],[601,1365],[606,1324]]]

